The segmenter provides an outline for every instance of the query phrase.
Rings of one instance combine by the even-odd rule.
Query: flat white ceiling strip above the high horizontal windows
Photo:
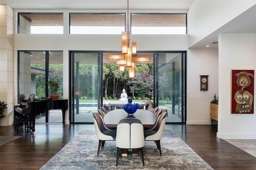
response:
[[[129,0],[131,10],[188,10],[194,0]],[[125,10],[127,0],[1,0],[13,9]]]

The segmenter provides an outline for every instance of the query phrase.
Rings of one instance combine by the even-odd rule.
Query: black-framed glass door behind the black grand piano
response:
[[[36,99],[48,98],[47,82],[58,82],[56,94],[63,98],[63,51],[18,51],[18,95],[30,94]],[[36,123],[62,123],[60,109],[46,111],[36,117]]]

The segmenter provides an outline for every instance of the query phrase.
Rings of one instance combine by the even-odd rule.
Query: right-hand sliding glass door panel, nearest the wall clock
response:
[[[155,106],[166,109],[168,123],[185,122],[186,53],[155,53]]]

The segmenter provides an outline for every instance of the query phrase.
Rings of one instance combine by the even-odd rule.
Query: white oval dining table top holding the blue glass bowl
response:
[[[104,123],[108,126],[117,126],[121,119],[131,117],[124,109],[114,109],[109,111],[103,118]],[[137,109],[131,118],[140,119],[142,125],[154,125],[156,122],[156,116],[148,110]]]

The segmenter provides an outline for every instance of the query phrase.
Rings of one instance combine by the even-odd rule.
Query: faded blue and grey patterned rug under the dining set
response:
[[[115,141],[106,141],[97,156],[95,131],[83,130],[40,170],[213,170],[173,131],[164,131],[162,156],[154,141],[145,141],[144,163],[140,156],[120,156],[116,167]]]

